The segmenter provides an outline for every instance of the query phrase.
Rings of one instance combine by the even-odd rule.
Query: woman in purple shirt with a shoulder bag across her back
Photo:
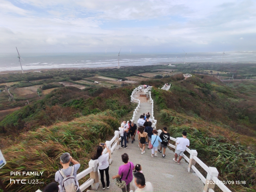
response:
[[[126,183],[126,188],[122,188],[122,192],[130,192],[130,182],[132,181],[132,170],[135,169],[134,164],[129,162],[129,156],[127,153],[122,155],[122,161],[124,162],[118,169],[118,174],[113,176],[112,179],[120,178],[122,175],[122,180]],[[131,166],[131,169],[130,169]],[[128,177],[127,177],[128,175]],[[127,180],[125,180],[127,177]]]

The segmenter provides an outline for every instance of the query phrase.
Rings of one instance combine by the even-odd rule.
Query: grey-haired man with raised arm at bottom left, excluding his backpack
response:
[[[73,170],[73,166],[69,166],[70,162],[74,164],[73,165],[74,166],[74,173],[73,173],[73,175],[76,178],[76,172],[79,169],[80,164],[76,160],[74,160],[72,158],[72,156],[70,156],[69,153],[63,153],[60,156],[60,164],[62,165],[62,169],[55,173],[55,181],[59,182],[59,184],[60,184],[60,192],[64,192],[64,190],[62,188],[62,180],[64,178],[61,175],[60,171],[62,171],[66,176],[71,175],[71,172]],[[77,190],[76,191],[77,192],[81,192],[81,190],[79,189],[79,184],[78,184],[77,179],[76,179],[76,183],[77,183]]]

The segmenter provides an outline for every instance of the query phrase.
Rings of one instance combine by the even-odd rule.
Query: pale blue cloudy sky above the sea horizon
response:
[[[255,0],[0,0],[0,53],[256,51]]]

